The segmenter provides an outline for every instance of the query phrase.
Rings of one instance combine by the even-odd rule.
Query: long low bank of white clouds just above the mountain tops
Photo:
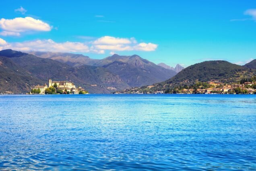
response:
[[[0,38],[0,49],[14,49],[18,51],[54,51],[73,53],[98,53],[109,51],[155,51],[156,44],[137,43],[135,38],[119,38],[104,36],[90,42],[62,42],[52,39],[38,39],[33,41],[8,43]]]

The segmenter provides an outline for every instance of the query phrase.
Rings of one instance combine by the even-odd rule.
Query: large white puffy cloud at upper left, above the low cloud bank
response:
[[[50,31],[52,27],[41,21],[34,19],[32,17],[18,17],[14,19],[5,19],[0,20],[0,28],[4,31],[1,32],[1,35],[15,35],[19,36],[21,32],[28,31]]]

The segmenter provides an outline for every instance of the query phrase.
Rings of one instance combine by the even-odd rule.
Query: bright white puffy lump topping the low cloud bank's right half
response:
[[[94,45],[119,45],[119,44],[130,44],[132,43],[129,39],[103,36],[93,42]]]

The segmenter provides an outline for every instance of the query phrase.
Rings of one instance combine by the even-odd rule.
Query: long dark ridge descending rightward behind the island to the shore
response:
[[[39,58],[10,49],[0,51],[0,55],[8,58],[15,66],[18,65],[24,71],[31,73],[31,77],[41,80],[40,83],[47,83],[48,79],[68,80],[74,82],[77,86],[82,86],[89,93],[110,93],[129,87],[118,75],[111,73],[104,67],[88,65],[71,67],[52,59]],[[6,77],[8,77],[8,74],[5,75],[4,79]],[[31,85],[36,84],[31,83]],[[12,89],[16,88],[16,85],[12,86]]]

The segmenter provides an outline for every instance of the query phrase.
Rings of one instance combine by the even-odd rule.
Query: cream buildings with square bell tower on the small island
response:
[[[36,85],[30,94],[45,94],[45,90],[50,87],[55,87],[56,90],[60,90],[61,92],[68,92],[68,94],[79,94],[79,92],[86,92],[85,89],[81,87],[76,88],[76,85],[70,81],[52,81],[52,79],[49,79],[48,86],[47,84]]]

